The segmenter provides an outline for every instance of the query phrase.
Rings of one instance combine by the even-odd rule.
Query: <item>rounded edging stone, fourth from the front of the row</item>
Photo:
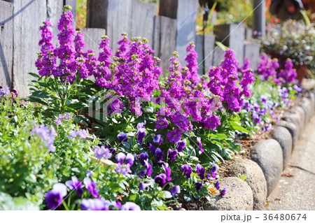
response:
[[[292,136],[288,129],[283,127],[276,127],[272,129],[271,136],[281,146],[283,155],[283,170],[288,166],[288,161],[292,153]]]

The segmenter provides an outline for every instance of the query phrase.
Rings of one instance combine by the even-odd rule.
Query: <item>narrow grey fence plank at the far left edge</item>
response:
[[[11,87],[13,64],[13,3],[0,1],[0,86]]]

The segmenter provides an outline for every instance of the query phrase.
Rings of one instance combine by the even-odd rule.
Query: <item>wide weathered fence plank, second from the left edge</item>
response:
[[[29,95],[29,80],[33,78],[27,73],[37,73],[34,65],[40,51],[38,41],[41,33],[38,29],[46,19],[46,1],[20,0],[14,1],[13,13],[13,88],[20,96]]]

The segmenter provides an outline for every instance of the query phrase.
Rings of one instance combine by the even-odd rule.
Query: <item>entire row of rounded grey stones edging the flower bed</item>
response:
[[[282,120],[272,129],[270,139],[256,143],[251,159],[235,159],[230,168],[234,177],[223,178],[227,187],[224,197],[216,195],[204,203],[204,210],[263,210],[269,196],[288,165],[290,154],[304,127],[315,113],[315,89],[308,92],[297,106],[283,113]],[[235,178],[246,175],[246,179]]]

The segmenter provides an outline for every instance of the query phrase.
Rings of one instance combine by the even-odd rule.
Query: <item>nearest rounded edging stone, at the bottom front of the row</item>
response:
[[[227,187],[225,196],[216,194],[204,203],[204,210],[253,210],[253,192],[239,178],[223,178],[221,188]]]

